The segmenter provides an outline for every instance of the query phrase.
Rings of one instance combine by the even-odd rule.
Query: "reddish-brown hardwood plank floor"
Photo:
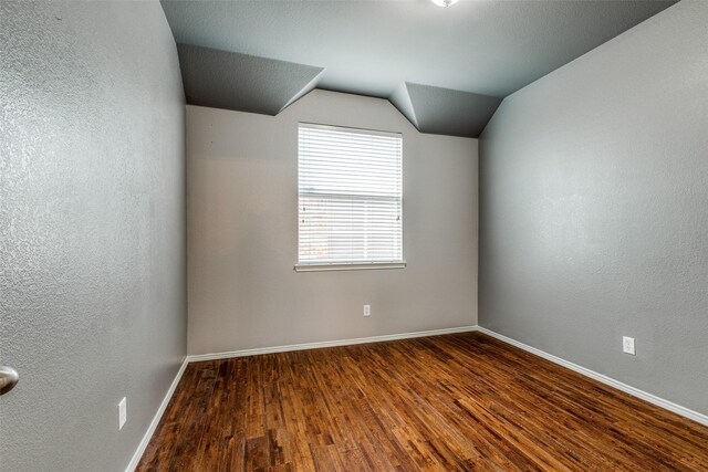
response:
[[[708,471],[708,428],[479,333],[190,364],[139,471]]]

